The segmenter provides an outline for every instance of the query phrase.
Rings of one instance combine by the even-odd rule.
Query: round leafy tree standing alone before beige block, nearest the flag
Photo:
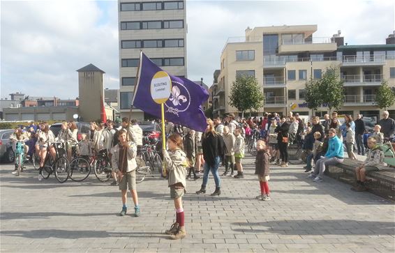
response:
[[[230,89],[230,105],[236,107],[244,117],[244,112],[263,106],[263,93],[255,77],[236,77]]]

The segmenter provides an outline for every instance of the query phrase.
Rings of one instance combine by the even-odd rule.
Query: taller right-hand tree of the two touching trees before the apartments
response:
[[[317,82],[320,102],[327,105],[329,113],[333,108],[340,109],[344,102],[344,87],[338,68],[336,66],[326,68],[321,79]]]

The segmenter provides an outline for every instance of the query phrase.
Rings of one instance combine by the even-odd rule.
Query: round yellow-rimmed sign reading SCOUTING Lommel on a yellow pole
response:
[[[172,91],[172,80],[165,71],[158,71],[151,80],[151,97],[157,104],[163,104],[169,99]]]

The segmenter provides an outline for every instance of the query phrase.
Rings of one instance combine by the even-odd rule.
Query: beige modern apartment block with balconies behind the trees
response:
[[[214,84],[214,114],[237,112],[229,105],[232,82],[237,75],[252,75],[264,93],[264,106],[255,115],[292,111],[311,116],[304,100],[306,82],[320,79],[327,67],[335,66],[345,86],[344,104],[338,112],[379,116],[373,101],[382,80],[395,86],[395,45],[344,45],[340,31],[328,38],[315,37],[315,31],[317,25],[266,26],[248,28],[244,37],[229,38]],[[392,41],[387,39],[387,43]],[[395,105],[387,109],[395,114]],[[325,112],[327,107],[320,107],[316,114]]]

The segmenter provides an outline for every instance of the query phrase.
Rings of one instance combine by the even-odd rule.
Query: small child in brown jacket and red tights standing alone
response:
[[[260,183],[260,195],[256,198],[263,201],[270,200],[270,190],[267,181],[269,181],[269,159],[270,154],[264,141],[257,141],[257,156],[255,158],[255,175],[258,175]]]

